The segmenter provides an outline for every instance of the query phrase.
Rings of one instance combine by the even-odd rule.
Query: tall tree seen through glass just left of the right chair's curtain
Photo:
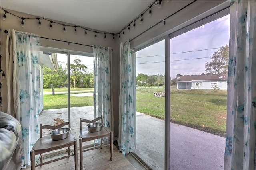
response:
[[[74,64],[70,64],[70,70],[72,71],[72,75],[70,78],[74,82],[74,87],[79,86],[84,74],[86,73],[87,66],[84,64],[80,64],[81,60],[75,59],[73,60]],[[76,85],[78,83],[78,85]]]

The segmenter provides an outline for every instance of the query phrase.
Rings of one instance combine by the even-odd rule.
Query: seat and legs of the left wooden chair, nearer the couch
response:
[[[68,156],[63,156],[61,158],[57,158],[57,159],[50,160],[48,162],[44,162],[42,164],[36,165],[35,155],[43,154],[43,153],[50,152],[52,150],[61,149],[61,148],[64,148],[64,147],[70,147],[72,145],[74,145],[74,154],[70,154]],[[42,138],[39,138],[36,141],[36,143],[34,144],[32,150],[30,152],[31,170],[35,170],[36,166],[42,166],[44,164],[49,164],[49,163],[55,162],[57,160],[61,160],[61,159],[64,159],[64,158],[69,158],[70,156],[74,156],[75,157],[75,159],[74,159],[74,161],[75,161],[75,169],[77,170],[77,156],[78,156],[78,153],[77,153],[77,140],[76,140],[76,137],[72,133],[70,133],[67,138],[62,139],[62,140],[58,140],[58,141],[52,140],[50,135],[44,136]]]

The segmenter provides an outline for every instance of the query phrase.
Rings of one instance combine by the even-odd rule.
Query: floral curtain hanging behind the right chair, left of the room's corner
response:
[[[94,56],[94,119],[101,117],[103,125],[111,127],[110,64],[111,48],[93,45]]]

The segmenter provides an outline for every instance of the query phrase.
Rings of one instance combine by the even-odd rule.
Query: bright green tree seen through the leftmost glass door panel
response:
[[[67,69],[58,66],[58,70],[52,70],[47,67],[43,67],[43,81],[44,88],[52,88],[52,95],[55,94],[54,89],[57,86],[64,85],[67,82]]]

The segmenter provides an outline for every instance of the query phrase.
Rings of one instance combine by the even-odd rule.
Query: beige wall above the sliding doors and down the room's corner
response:
[[[49,29],[49,22],[48,21],[41,21],[41,28],[38,27],[38,20],[24,20],[25,26],[21,27],[19,18],[7,15],[6,21],[1,21],[1,29],[15,29],[20,31],[26,31],[30,33],[35,33],[40,35],[41,37],[49,37],[53,39],[61,39],[64,41],[82,43],[87,45],[99,45],[104,47],[112,47],[114,49],[112,53],[112,86],[113,86],[113,113],[114,113],[114,136],[118,137],[118,112],[119,112],[119,83],[120,83],[120,42],[124,42],[127,39],[133,39],[140,33],[144,32],[148,28],[152,27],[159,21],[163,20],[167,16],[170,16],[174,12],[178,11],[180,8],[186,6],[187,4],[191,3],[192,1],[163,1],[162,8],[158,9],[157,5],[152,6],[152,15],[149,17],[148,12],[146,12],[143,16],[143,23],[139,24],[140,18],[136,20],[136,27],[133,28],[133,22],[131,24],[130,32],[128,29],[125,29],[125,36],[122,37],[121,32],[121,39],[118,40],[116,37],[115,41],[112,41],[112,35],[107,35],[107,40],[104,41],[103,37],[100,38],[98,35],[98,39],[94,39],[94,33],[89,33],[88,37],[84,36],[84,31],[78,29],[78,33],[74,34],[74,28],[66,27],[66,33],[62,33],[62,25],[53,25],[52,30]],[[164,23],[158,24],[153,29],[150,29],[146,33],[142,34],[141,36],[137,37],[133,41],[130,42],[130,45],[135,50],[142,48],[144,45],[148,43],[152,43],[153,41],[168,35],[169,33],[173,33],[174,31],[193,23],[196,20],[200,20],[204,16],[212,13],[209,12],[210,9],[213,8],[213,11],[217,11],[219,8],[215,8],[216,6],[222,4],[223,0],[199,0],[196,1],[194,4],[190,5],[186,9],[178,12],[174,16],[168,18],[166,20],[166,25]],[[23,17],[31,17],[34,18],[35,16],[27,15],[20,12],[14,12],[12,10],[8,10],[9,12],[13,12],[18,16]],[[2,17],[4,14],[3,10],[1,10],[0,16]],[[134,18],[131,18],[130,21],[133,21]],[[71,24],[70,24],[71,25]],[[128,25],[128,23],[127,23]],[[104,26],[104,25],[102,25]],[[121,31],[121,30],[120,30]],[[0,34],[2,47],[1,47],[1,55],[2,58],[2,69],[6,72],[5,66],[5,51],[6,51],[6,34],[4,31],[1,31]],[[92,47],[85,47],[80,45],[68,45],[67,43],[52,41],[52,40],[45,40],[40,39],[40,45],[46,47],[55,47],[60,49],[69,49],[74,51],[84,51],[84,52],[92,52]],[[2,82],[2,110],[6,111],[6,82]]]

